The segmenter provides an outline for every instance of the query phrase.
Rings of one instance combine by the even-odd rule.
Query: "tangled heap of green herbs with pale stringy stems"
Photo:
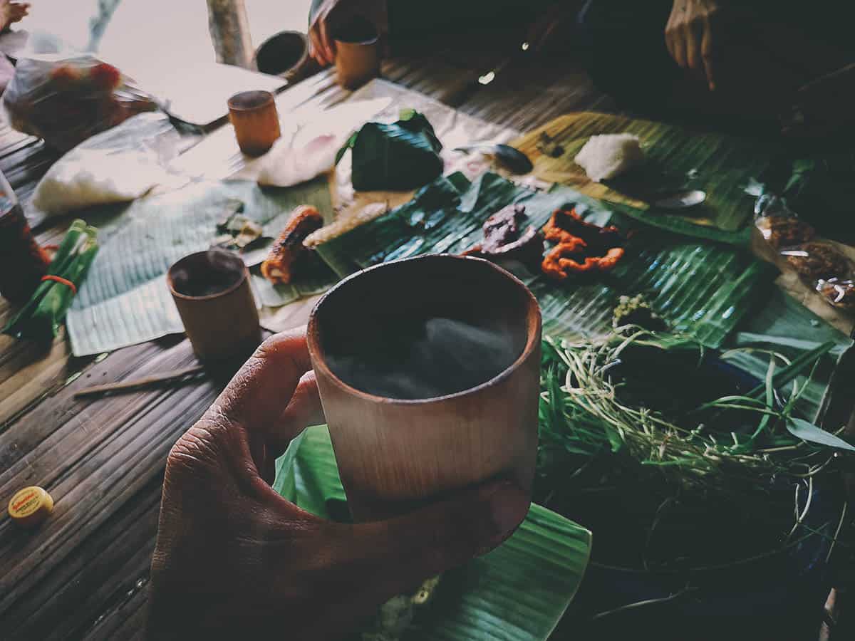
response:
[[[694,353],[700,362],[703,347],[693,344],[691,338],[636,329],[628,337],[615,333],[579,344],[545,340],[540,420],[547,449],[558,440],[574,455],[593,456],[604,449],[626,451],[641,465],[662,468],[675,483],[705,490],[724,488],[733,479],[759,483],[773,474],[811,475],[832,456],[829,447],[855,450],[809,421],[790,415],[803,386],[793,390],[791,402],[783,407],[775,403],[776,385],[810,370],[826,346],[777,372],[778,357],[770,356],[769,375],[758,393],[719,397],[680,415],[668,415],[651,403],[627,403],[626,398],[637,400],[638,395],[625,388],[639,383],[629,377],[612,377],[610,372],[616,364],[625,365],[633,350],[658,350],[672,362],[679,354]],[[643,361],[649,362],[649,358],[646,352]],[[656,371],[662,369],[659,365],[650,368],[648,376],[663,383],[666,379]],[[668,379],[669,383],[685,378],[681,372]],[[688,394],[698,382],[685,379],[684,387],[664,392]],[[727,411],[711,415],[711,409]],[[711,416],[716,418],[715,425],[706,422]]]

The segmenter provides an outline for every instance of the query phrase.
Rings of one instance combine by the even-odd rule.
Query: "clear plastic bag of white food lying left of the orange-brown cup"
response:
[[[166,115],[135,115],[62,156],[36,185],[32,205],[60,215],[131,201],[158,186],[177,189],[189,180],[169,167],[180,144]]]

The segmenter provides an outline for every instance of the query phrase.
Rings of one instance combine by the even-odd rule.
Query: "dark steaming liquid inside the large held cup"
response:
[[[392,316],[356,340],[327,345],[327,364],[347,385],[375,396],[442,397],[504,372],[522,354],[507,326],[488,321]]]

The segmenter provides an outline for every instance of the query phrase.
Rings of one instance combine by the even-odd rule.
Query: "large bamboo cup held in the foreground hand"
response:
[[[400,400],[346,384],[331,345],[358,341],[383,315],[488,320],[519,356],[481,385]],[[531,491],[537,453],[540,309],[525,285],[491,262],[421,256],[352,275],[327,292],[308,329],[312,365],[355,520],[382,520],[497,477]],[[335,348],[333,348],[335,349]]]

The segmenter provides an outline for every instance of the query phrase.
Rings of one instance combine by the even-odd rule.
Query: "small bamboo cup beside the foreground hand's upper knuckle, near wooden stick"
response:
[[[233,362],[261,343],[250,273],[239,256],[225,250],[185,256],[169,268],[167,282],[199,361]]]

